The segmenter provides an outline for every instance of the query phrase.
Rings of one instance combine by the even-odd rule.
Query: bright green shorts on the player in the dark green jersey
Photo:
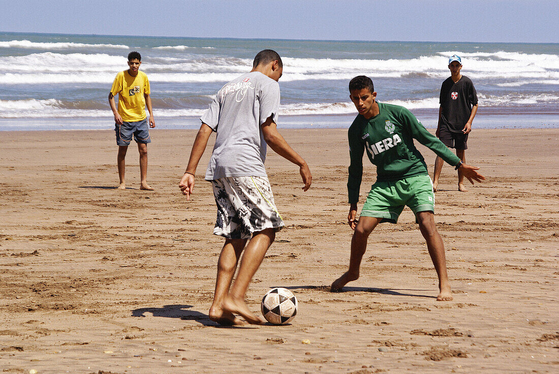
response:
[[[381,222],[395,224],[406,205],[414,214],[435,211],[433,182],[427,174],[394,182],[376,182],[371,186],[361,216],[382,218]]]

